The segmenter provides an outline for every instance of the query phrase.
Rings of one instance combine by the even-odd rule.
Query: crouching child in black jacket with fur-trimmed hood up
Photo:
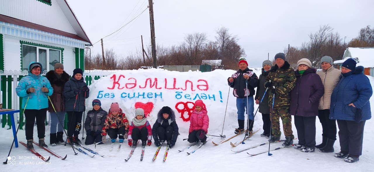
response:
[[[153,124],[152,134],[154,145],[157,147],[162,146],[165,140],[169,148],[175,145],[178,138],[178,125],[175,122],[174,111],[170,107],[164,106],[157,113],[157,121]]]

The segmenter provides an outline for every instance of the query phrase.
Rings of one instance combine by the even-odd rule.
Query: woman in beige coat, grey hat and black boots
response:
[[[329,119],[331,94],[339,82],[341,71],[332,66],[332,58],[324,56],[321,59],[322,70],[317,74],[321,77],[325,87],[325,93],[321,97],[318,106],[318,118],[322,124],[322,143],[316,145],[321,152],[334,152],[334,143],[336,140],[336,120]]]

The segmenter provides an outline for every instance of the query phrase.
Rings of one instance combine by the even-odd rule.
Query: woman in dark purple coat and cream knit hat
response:
[[[325,93],[317,70],[311,68],[309,59],[297,62],[296,85],[291,91],[290,113],[295,116],[298,144],[294,148],[303,152],[314,152],[316,146],[316,116],[319,99]]]

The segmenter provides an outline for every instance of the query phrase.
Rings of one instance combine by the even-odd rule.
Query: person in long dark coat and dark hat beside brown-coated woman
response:
[[[90,93],[82,75],[82,69],[74,69],[73,77],[65,83],[64,87],[65,110],[68,114],[69,144],[82,144],[78,135],[82,128],[82,114],[86,110],[86,98],[88,98]]]

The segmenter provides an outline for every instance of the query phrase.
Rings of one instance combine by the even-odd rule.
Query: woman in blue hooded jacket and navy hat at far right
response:
[[[357,162],[362,154],[365,121],[371,118],[369,99],[373,94],[364,67],[347,59],[341,67],[341,79],[331,95],[330,119],[337,119],[340,152],[337,158]]]

